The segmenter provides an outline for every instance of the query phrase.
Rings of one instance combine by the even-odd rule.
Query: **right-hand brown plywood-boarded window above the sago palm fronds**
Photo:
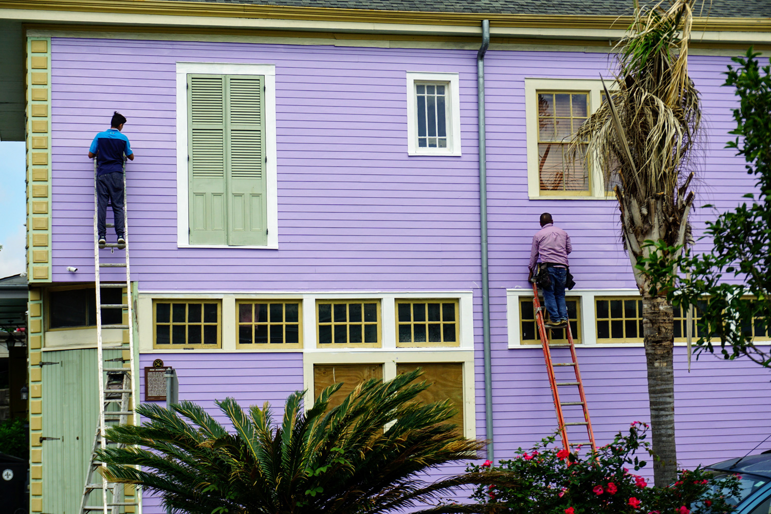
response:
[[[425,380],[431,386],[420,393],[416,400],[421,403],[452,401],[453,407],[458,409],[458,412],[447,422],[457,425],[463,432],[463,364],[460,362],[398,364],[396,374],[409,373],[417,368],[423,368],[423,377],[416,381]]]

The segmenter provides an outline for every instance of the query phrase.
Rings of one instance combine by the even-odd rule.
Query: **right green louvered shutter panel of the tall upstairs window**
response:
[[[267,244],[264,76],[227,76],[227,244]]]

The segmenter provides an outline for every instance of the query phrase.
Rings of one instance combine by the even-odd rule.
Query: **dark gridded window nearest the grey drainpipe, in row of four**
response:
[[[458,301],[397,300],[396,346],[458,346]]]

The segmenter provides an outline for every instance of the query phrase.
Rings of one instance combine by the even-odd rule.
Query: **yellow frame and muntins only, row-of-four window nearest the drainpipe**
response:
[[[415,306],[423,304],[424,310],[423,310],[423,320],[424,321],[415,321],[414,317],[416,315]],[[429,304],[439,304],[439,320],[438,321],[429,321]],[[445,318],[445,311],[444,311],[444,305],[445,304],[452,304],[453,305],[453,321],[444,321]],[[410,321],[402,321],[401,315],[399,312],[399,306],[400,305],[409,305],[409,317]],[[460,346],[460,302],[457,298],[410,298],[410,299],[402,299],[402,300],[396,300],[396,315],[394,316],[396,318],[396,347],[397,348],[436,348],[436,347],[446,347],[446,348],[456,348]],[[416,324],[417,325],[423,325],[426,327],[426,331],[423,333],[424,338],[426,341],[415,341],[416,339]],[[439,324],[439,341],[429,341],[431,328],[429,325],[436,325]],[[454,341],[446,341],[446,327],[453,326],[454,334],[453,338]],[[409,330],[409,341],[402,341],[402,338],[406,337],[406,331]],[[418,330],[420,332],[420,330]]]

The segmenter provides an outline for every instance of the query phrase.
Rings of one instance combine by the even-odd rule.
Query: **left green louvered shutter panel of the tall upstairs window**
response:
[[[187,76],[190,244],[227,244],[223,76]]]

